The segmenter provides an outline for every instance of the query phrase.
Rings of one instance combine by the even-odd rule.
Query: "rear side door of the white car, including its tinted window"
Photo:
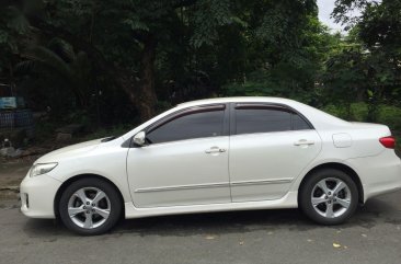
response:
[[[318,133],[303,116],[283,105],[232,104],[232,202],[283,197],[318,156]]]

